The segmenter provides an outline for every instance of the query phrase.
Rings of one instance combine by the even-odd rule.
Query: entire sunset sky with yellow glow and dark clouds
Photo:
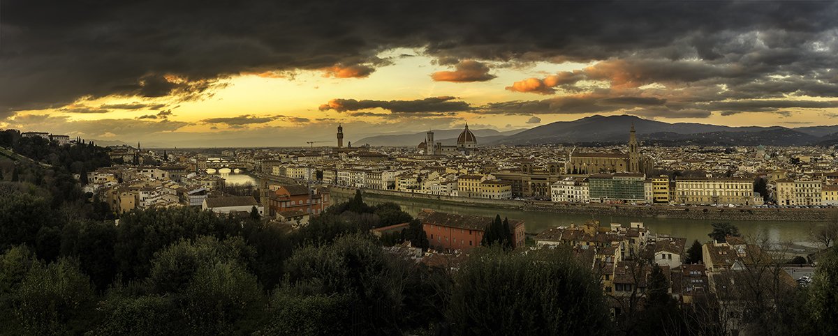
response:
[[[838,2],[0,1],[0,127],[286,146],[589,115],[838,124]]]

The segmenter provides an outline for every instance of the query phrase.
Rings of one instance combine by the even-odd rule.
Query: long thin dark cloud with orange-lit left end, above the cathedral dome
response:
[[[357,111],[360,109],[387,109],[394,114],[415,114],[428,112],[460,112],[468,111],[472,107],[464,102],[454,100],[456,97],[432,97],[416,100],[356,100],[332,99],[327,104],[320,105],[321,111],[334,109],[338,112]]]

